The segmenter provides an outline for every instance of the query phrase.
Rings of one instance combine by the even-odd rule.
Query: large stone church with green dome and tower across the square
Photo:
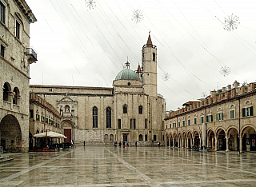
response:
[[[164,142],[166,117],[166,104],[157,86],[157,47],[149,35],[142,47],[142,69],[138,66],[138,70],[130,70],[126,62],[126,69],[117,74],[113,87],[30,85],[30,92],[58,110],[66,141],[154,145]]]

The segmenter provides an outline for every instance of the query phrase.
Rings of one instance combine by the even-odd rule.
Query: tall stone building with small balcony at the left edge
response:
[[[0,139],[8,152],[29,148],[30,48],[34,14],[24,0],[0,0]]]

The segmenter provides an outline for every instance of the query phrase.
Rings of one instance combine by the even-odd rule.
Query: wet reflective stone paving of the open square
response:
[[[11,156],[0,186],[256,186],[256,153],[86,146]]]

